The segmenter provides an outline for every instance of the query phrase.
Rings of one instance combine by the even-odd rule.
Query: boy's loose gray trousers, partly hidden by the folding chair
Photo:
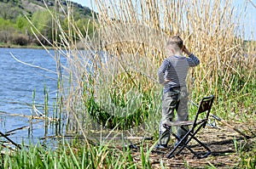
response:
[[[170,140],[170,133],[166,132],[163,124],[170,122],[174,118],[174,111],[177,112],[177,121],[187,121],[189,119],[188,101],[189,93],[187,87],[174,87],[163,94],[162,97],[162,118],[159,126],[160,144],[167,145]],[[177,127],[177,137],[183,138],[185,132]]]

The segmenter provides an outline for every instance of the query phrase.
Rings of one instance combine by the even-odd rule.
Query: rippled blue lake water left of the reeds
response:
[[[19,115],[32,115],[32,93],[35,93],[35,102],[38,110],[44,112],[44,87],[49,91],[49,104],[54,103],[57,89],[57,75],[47,70],[22,64],[17,59],[31,65],[37,65],[48,70],[56,71],[55,59],[44,49],[29,48],[0,48],[0,131],[11,132],[9,136],[20,144],[22,140],[44,137],[54,134],[54,129],[49,127],[44,133],[44,121],[35,121],[30,126],[29,118]],[[54,54],[54,51],[50,51]],[[61,62],[65,59],[61,59]],[[41,106],[40,106],[41,105]],[[19,115],[13,115],[19,114]],[[18,129],[23,127],[22,129]],[[18,129],[18,130],[16,130]],[[3,139],[3,138],[1,138]]]

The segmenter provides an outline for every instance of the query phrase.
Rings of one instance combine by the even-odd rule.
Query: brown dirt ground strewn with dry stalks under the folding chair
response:
[[[250,152],[251,154],[252,151],[255,152],[256,127],[254,123],[250,126],[242,123],[232,123],[231,126],[236,127],[251,138],[246,139],[241,136],[240,133],[234,131],[234,129],[224,125],[218,124],[218,128],[206,127],[202,129],[196,137],[199,138],[202,143],[207,144],[211,149],[212,154],[208,155],[207,158],[198,159],[185,148],[180,155],[168,159],[166,155],[173,148],[173,145],[170,144],[169,149],[153,149],[149,155],[150,164],[152,168],[162,168],[162,166],[164,166],[164,168],[207,168],[207,166],[215,166],[216,168],[239,168],[238,164],[241,163],[241,157],[237,149],[242,148],[243,153]],[[234,144],[235,140],[237,148]],[[173,140],[171,142],[173,142]],[[154,141],[148,141],[148,144],[154,144]],[[189,146],[195,151],[202,150],[199,144],[193,141],[191,141]],[[145,155],[146,153],[147,152],[145,152]],[[140,149],[133,149],[132,155],[134,161],[141,163]],[[252,158],[255,159],[255,156]]]

